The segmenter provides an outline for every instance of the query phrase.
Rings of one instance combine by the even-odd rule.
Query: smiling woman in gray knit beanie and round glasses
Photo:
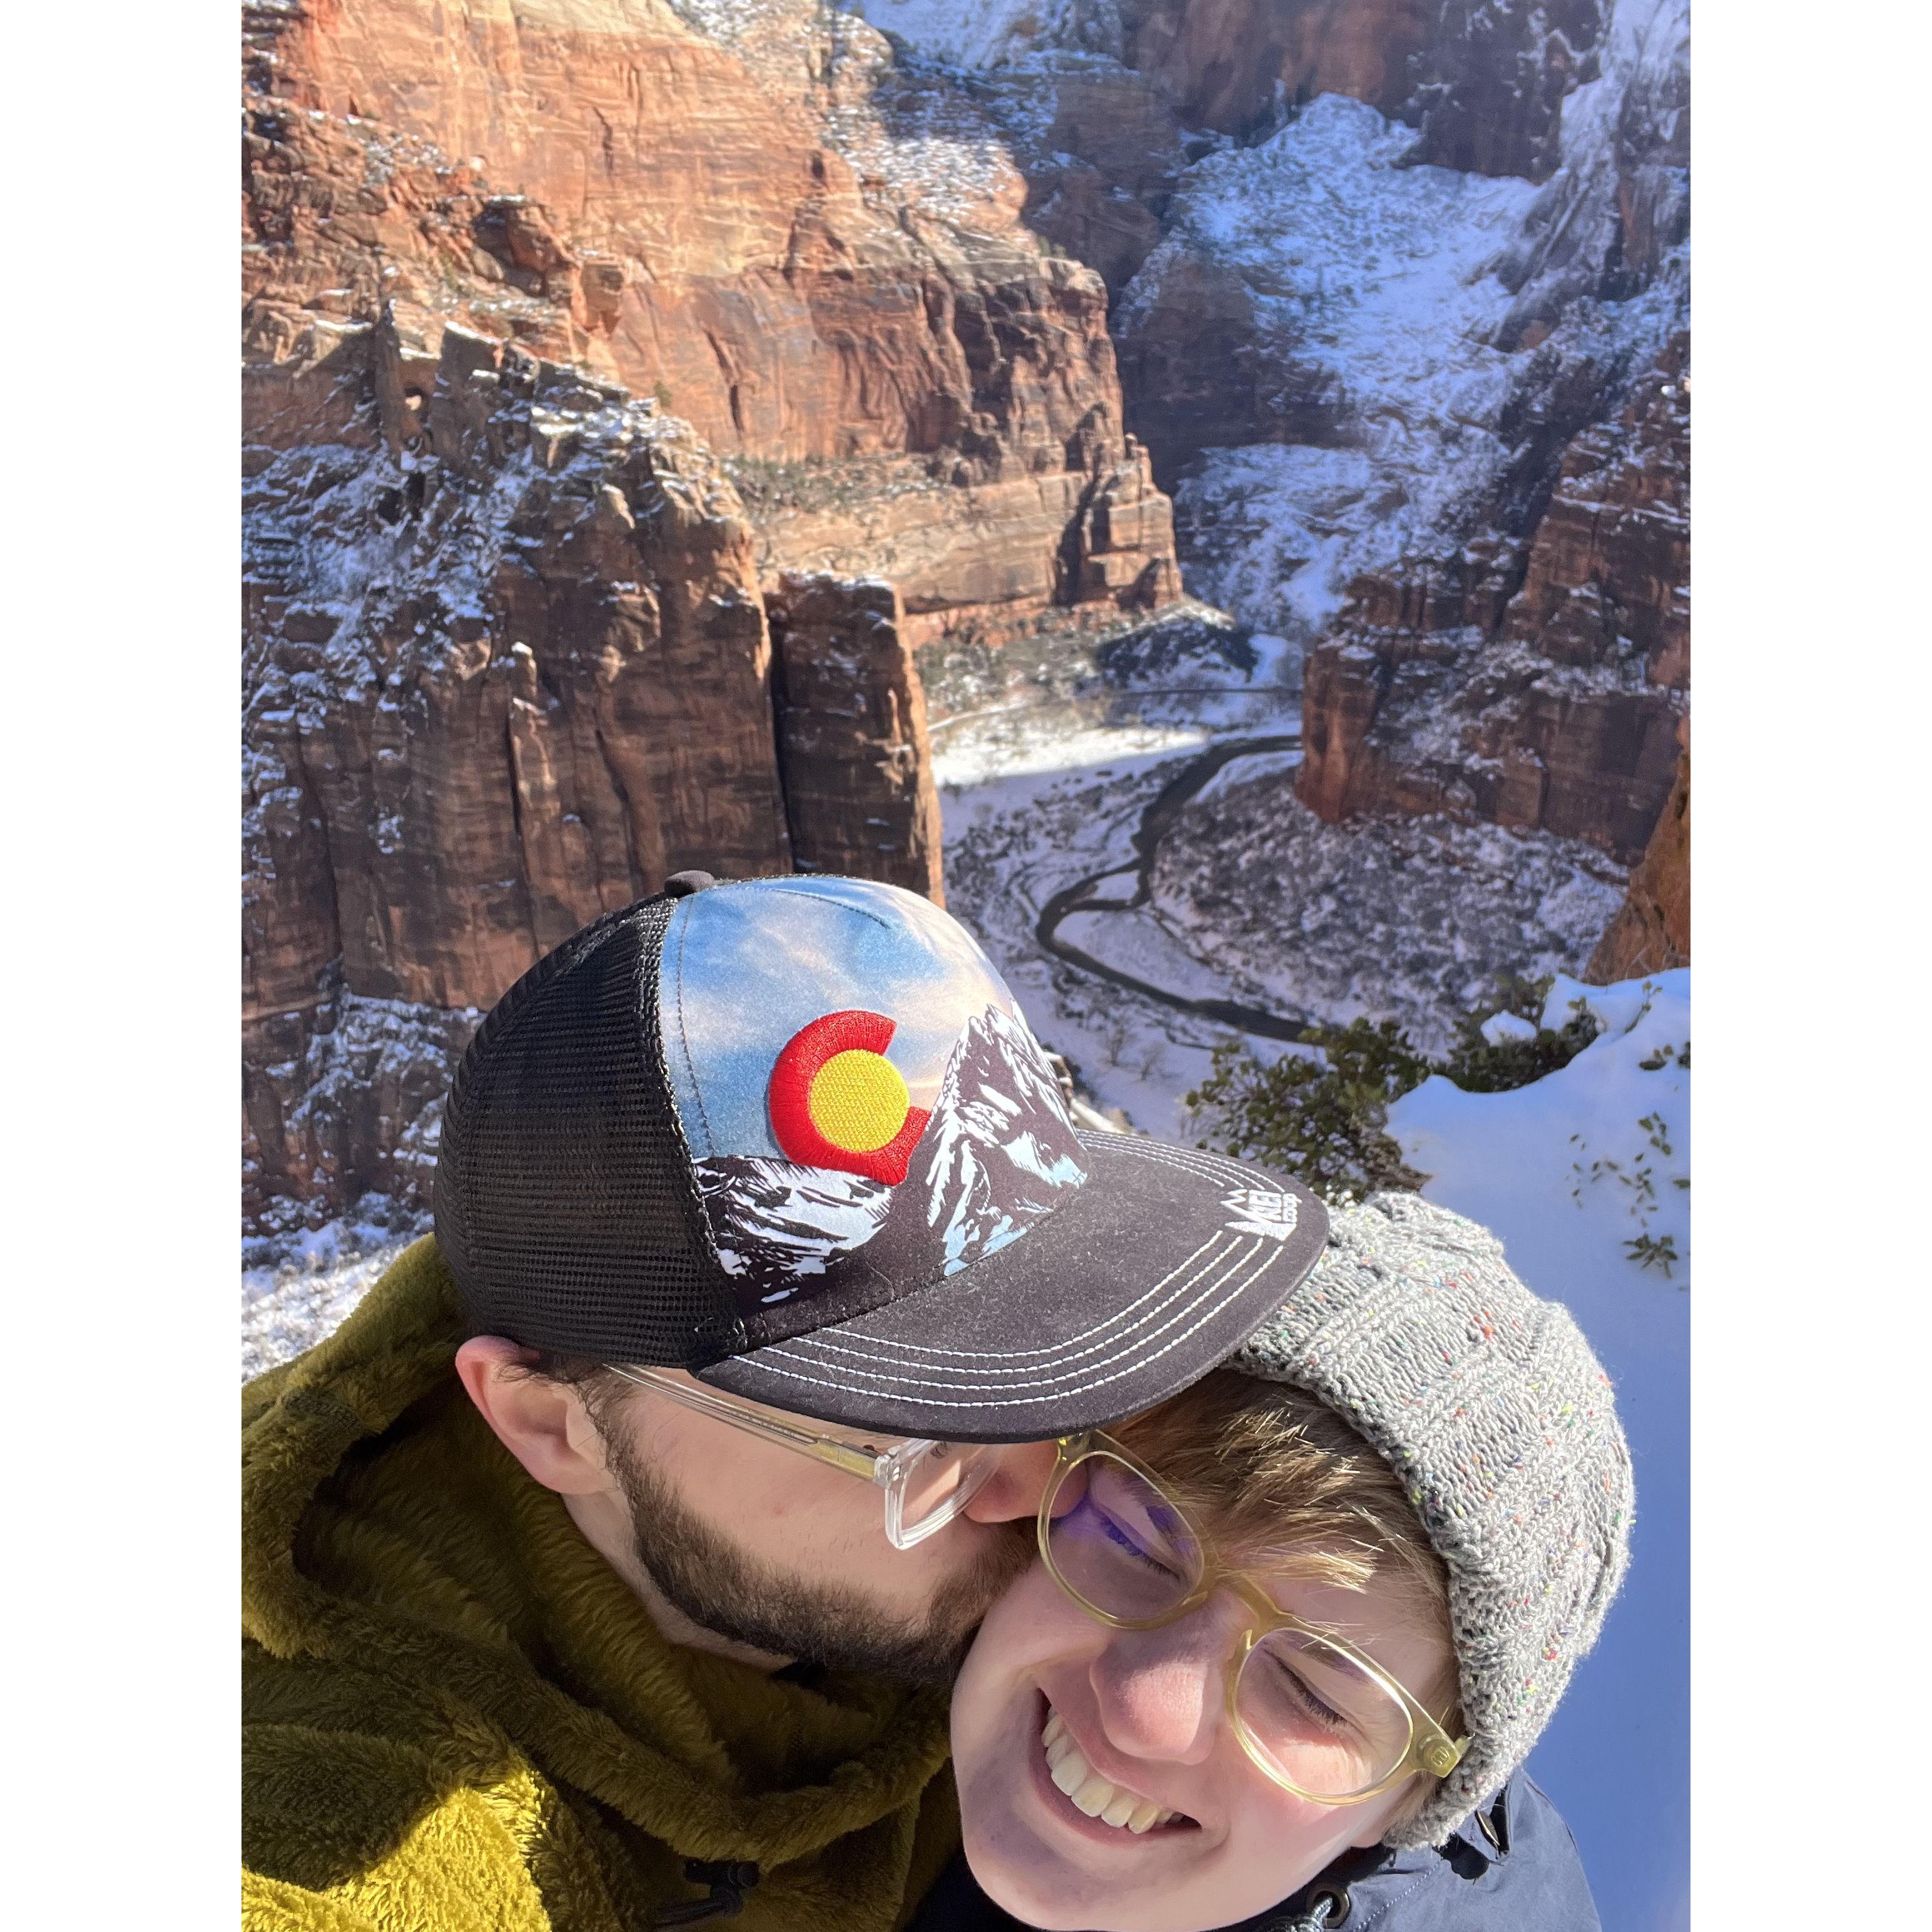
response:
[[[1472,1221],[1331,1223],[1227,1368],[1061,1445],[914,1932],[1596,1932],[1520,1766],[1623,1578],[1609,1381]]]

